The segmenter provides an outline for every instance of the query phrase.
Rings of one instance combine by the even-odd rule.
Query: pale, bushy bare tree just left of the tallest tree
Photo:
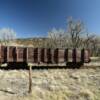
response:
[[[63,29],[55,29],[53,28],[50,32],[48,32],[48,41],[47,46],[51,48],[59,47],[64,48],[67,42],[67,36]]]

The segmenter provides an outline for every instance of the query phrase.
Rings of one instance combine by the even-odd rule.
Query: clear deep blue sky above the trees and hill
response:
[[[17,37],[47,36],[52,28],[67,28],[67,18],[80,19],[90,33],[100,33],[100,0],[0,0],[0,28]]]

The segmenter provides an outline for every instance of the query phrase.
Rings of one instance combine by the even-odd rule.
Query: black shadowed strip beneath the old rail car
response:
[[[66,66],[33,66],[32,69],[75,69],[75,68],[81,68],[83,66],[82,62],[79,63],[72,63],[69,62],[66,64]],[[8,63],[6,67],[0,67],[0,69],[4,70],[20,70],[20,69],[26,69],[28,70],[29,67],[27,66],[27,63]]]

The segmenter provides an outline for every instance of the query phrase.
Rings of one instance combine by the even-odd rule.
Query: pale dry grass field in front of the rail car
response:
[[[100,69],[0,70],[0,100],[100,100]]]

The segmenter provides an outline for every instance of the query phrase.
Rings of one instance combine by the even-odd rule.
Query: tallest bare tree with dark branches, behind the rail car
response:
[[[82,43],[81,36],[85,32],[83,22],[74,21],[72,17],[68,19],[68,35],[70,39],[70,47],[78,48]]]

